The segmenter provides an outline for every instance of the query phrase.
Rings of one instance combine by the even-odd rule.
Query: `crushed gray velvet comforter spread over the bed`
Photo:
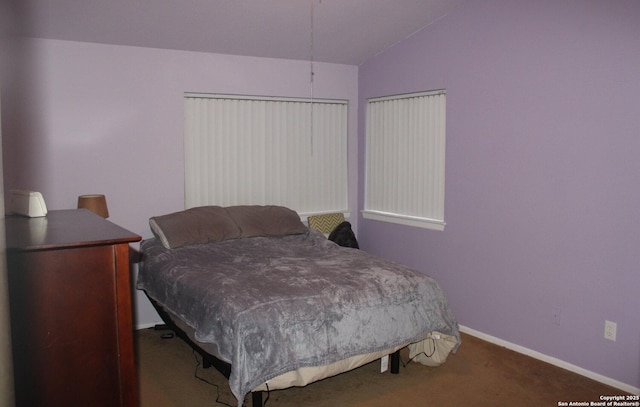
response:
[[[165,249],[141,245],[137,288],[215,343],[242,405],[282,373],[384,350],[439,331],[458,338],[430,277],[309,231]]]

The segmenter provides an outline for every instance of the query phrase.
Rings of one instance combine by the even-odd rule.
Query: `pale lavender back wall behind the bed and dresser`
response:
[[[309,97],[309,63],[31,40],[3,75],[5,187],[41,191],[49,209],[103,193],[110,220],[143,237],[151,216],[183,209],[183,93]],[[315,64],[314,97],[350,101],[352,212],[357,67]],[[158,321],[137,295],[138,325]]]

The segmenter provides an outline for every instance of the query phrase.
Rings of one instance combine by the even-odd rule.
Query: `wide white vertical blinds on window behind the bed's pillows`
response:
[[[186,94],[185,207],[346,211],[347,117],[346,101]]]

